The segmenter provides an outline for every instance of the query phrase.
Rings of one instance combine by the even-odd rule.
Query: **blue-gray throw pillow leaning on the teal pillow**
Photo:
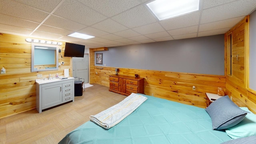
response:
[[[212,129],[222,130],[241,122],[248,112],[239,108],[228,96],[218,98],[206,109],[212,119]]]

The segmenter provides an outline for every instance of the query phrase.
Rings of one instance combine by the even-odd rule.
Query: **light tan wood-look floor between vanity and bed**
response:
[[[0,119],[0,144],[57,144],[68,132],[126,96],[109,92],[99,84],[86,88],[74,102],[39,114],[28,110]]]

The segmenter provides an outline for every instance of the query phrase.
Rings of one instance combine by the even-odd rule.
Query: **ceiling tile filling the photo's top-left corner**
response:
[[[49,15],[12,0],[0,0],[0,13],[39,23]]]

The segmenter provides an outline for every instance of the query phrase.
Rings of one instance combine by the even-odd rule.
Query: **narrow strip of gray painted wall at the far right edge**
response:
[[[249,88],[256,90],[256,11],[250,14],[250,56],[249,56]]]

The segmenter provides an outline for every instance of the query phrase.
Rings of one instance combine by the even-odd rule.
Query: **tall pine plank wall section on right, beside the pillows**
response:
[[[227,36],[232,34],[232,75],[226,75],[226,93],[232,96],[233,102],[238,106],[246,106],[254,113],[256,112],[256,94],[253,94],[246,88],[246,58],[245,50],[249,42],[249,17],[246,16],[236,26],[225,34],[226,59],[228,51]],[[237,55],[238,54],[238,55]],[[238,56],[238,59],[236,59]],[[226,68],[230,68],[230,63],[226,62]],[[227,72],[227,69],[226,69]]]

